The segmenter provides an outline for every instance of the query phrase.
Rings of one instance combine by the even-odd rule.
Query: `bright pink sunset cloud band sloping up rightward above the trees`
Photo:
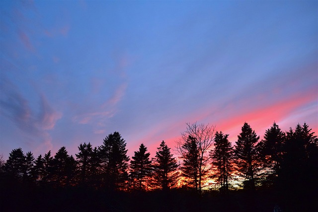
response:
[[[212,113],[212,111],[217,111],[213,108],[202,109],[199,110],[200,112],[185,118],[177,119],[176,117],[169,117],[168,119],[161,120],[160,123],[151,128],[145,136],[143,136],[144,132],[140,132],[139,134],[135,133],[135,135],[130,135],[130,138],[133,138],[132,143],[140,145],[140,143],[143,142],[148,146],[152,156],[154,156],[162,140],[164,140],[171,149],[174,149],[175,141],[180,138],[180,133],[185,130],[185,123],[188,122],[198,121],[198,123],[216,125],[215,130],[229,134],[229,140],[232,142],[237,140],[243,123],[247,122],[252,129],[255,130],[256,134],[260,136],[260,139],[262,139],[265,130],[270,128],[274,121],[283,131],[287,131],[289,127],[294,128],[298,122],[302,122],[303,120],[299,118],[302,118],[306,114],[317,115],[317,108],[311,107],[309,109],[303,109],[304,106],[315,101],[317,102],[317,92],[316,89],[313,89],[307,92],[307,95],[298,93],[288,99],[282,99],[273,104],[264,105],[263,107],[242,108],[242,110],[238,110],[235,108],[235,105],[230,105],[224,108],[220,113]],[[302,113],[301,117],[299,113]],[[298,117],[295,117],[295,114],[298,114]],[[205,120],[210,120],[210,122],[204,122]],[[285,120],[289,121],[285,123]],[[288,126],[286,126],[286,124],[288,124]],[[292,126],[289,126],[290,124],[292,124]],[[318,133],[317,125],[315,122],[313,126],[310,125],[316,135]],[[138,148],[137,144],[132,146],[134,150]]]

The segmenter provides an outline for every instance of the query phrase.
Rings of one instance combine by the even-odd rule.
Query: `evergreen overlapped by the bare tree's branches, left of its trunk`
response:
[[[182,165],[180,170],[182,176],[186,177],[191,186],[198,190],[199,183],[199,152],[196,139],[188,136],[188,139],[182,145],[184,150],[181,155]]]

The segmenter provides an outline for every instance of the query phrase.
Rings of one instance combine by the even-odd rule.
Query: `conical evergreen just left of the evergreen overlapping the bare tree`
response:
[[[160,189],[167,190],[176,183],[178,164],[164,141],[157,149],[156,156],[153,158],[153,176],[155,184]]]

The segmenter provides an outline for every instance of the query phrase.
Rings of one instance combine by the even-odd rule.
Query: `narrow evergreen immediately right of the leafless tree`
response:
[[[215,148],[211,151],[212,165],[215,167],[213,175],[220,185],[220,190],[229,190],[229,179],[233,172],[233,147],[228,140],[229,135],[224,135],[222,131],[216,132],[214,139]]]

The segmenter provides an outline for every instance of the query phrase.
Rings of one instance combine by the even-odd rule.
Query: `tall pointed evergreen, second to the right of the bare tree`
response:
[[[244,178],[246,189],[255,189],[255,176],[258,168],[256,143],[259,136],[245,122],[236,141],[234,155],[239,176]]]

